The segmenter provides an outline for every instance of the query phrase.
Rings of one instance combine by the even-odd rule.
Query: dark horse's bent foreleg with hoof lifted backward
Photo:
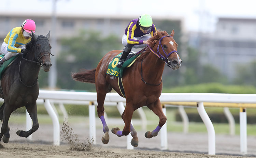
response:
[[[32,128],[30,130],[28,130],[28,131],[18,130],[16,133],[20,137],[26,137],[27,138],[33,132],[38,130],[39,123],[38,123],[38,119],[37,119],[37,104],[34,103],[32,105],[28,105],[28,106],[26,106],[26,109],[27,109],[27,111],[28,111],[28,113],[30,115],[30,118],[32,119],[32,122],[33,122]]]

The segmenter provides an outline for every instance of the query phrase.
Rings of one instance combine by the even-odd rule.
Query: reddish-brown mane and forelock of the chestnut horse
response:
[[[169,34],[166,32],[166,31],[160,31],[160,30],[157,30],[157,35],[151,37],[150,39],[148,39],[148,42],[151,43],[149,44],[150,48],[153,48],[155,46],[156,43],[154,43],[153,41],[157,40],[159,41],[160,39],[160,36],[159,34],[161,34],[162,36],[168,36]],[[146,48],[142,53],[141,53],[141,56],[137,59],[137,61],[141,61],[143,60],[144,58],[146,58],[146,56],[151,52],[150,49]]]

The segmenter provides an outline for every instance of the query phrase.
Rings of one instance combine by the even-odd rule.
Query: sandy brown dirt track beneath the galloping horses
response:
[[[89,131],[84,124],[72,125],[70,133],[71,142],[61,139],[60,146],[53,146],[52,125],[40,125],[38,131],[33,133],[33,141],[16,135],[18,129],[25,125],[10,125],[11,138],[8,144],[3,142],[5,148],[0,148],[0,157],[104,157],[104,158],[233,158],[256,157],[256,137],[249,137],[248,154],[240,154],[239,136],[216,135],[216,155],[208,155],[207,133],[168,133],[167,151],[160,151],[160,136],[146,139],[145,131],[139,131],[139,147],[134,150],[126,149],[126,137],[117,137],[110,133],[110,142],[104,145],[101,142],[102,129],[97,129],[96,145],[88,144]],[[62,127],[62,126],[61,126]],[[61,128],[60,127],[60,128]],[[122,127],[122,126],[120,126]],[[110,127],[112,128],[112,127]],[[77,134],[77,137],[76,135]],[[76,139],[76,140],[75,140]],[[80,151],[76,151],[80,150]]]

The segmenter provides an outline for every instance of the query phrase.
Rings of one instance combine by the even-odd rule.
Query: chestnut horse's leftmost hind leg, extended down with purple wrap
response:
[[[103,125],[103,132],[104,135],[101,138],[101,141],[103,144],[108,144],[109,143],[109,127],[106,124],[105,118],[104,118],[104,100],[106,97],[106,93],[100,93],[97,92],[97,102],[98,102],[98,106],[97,106],[97,113],[98,116],[102,122]]]

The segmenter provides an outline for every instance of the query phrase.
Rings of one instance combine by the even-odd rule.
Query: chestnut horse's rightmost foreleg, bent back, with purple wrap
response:
[[[147,105],[147,107],[150,110],[152,110],[159,117],[159,124],[156,127],[156,129],[154,129],[152,132],[147,131],[145,133],[146,138],[152,138],[152,137],[157,136],[157,134],[160,131],[160,129],[162,128],[162,126],[166,123],[167,118],[166,118],[165,114],[163,113],[161,102],[159,99],[156,102],[154,102],[153,104]]]

